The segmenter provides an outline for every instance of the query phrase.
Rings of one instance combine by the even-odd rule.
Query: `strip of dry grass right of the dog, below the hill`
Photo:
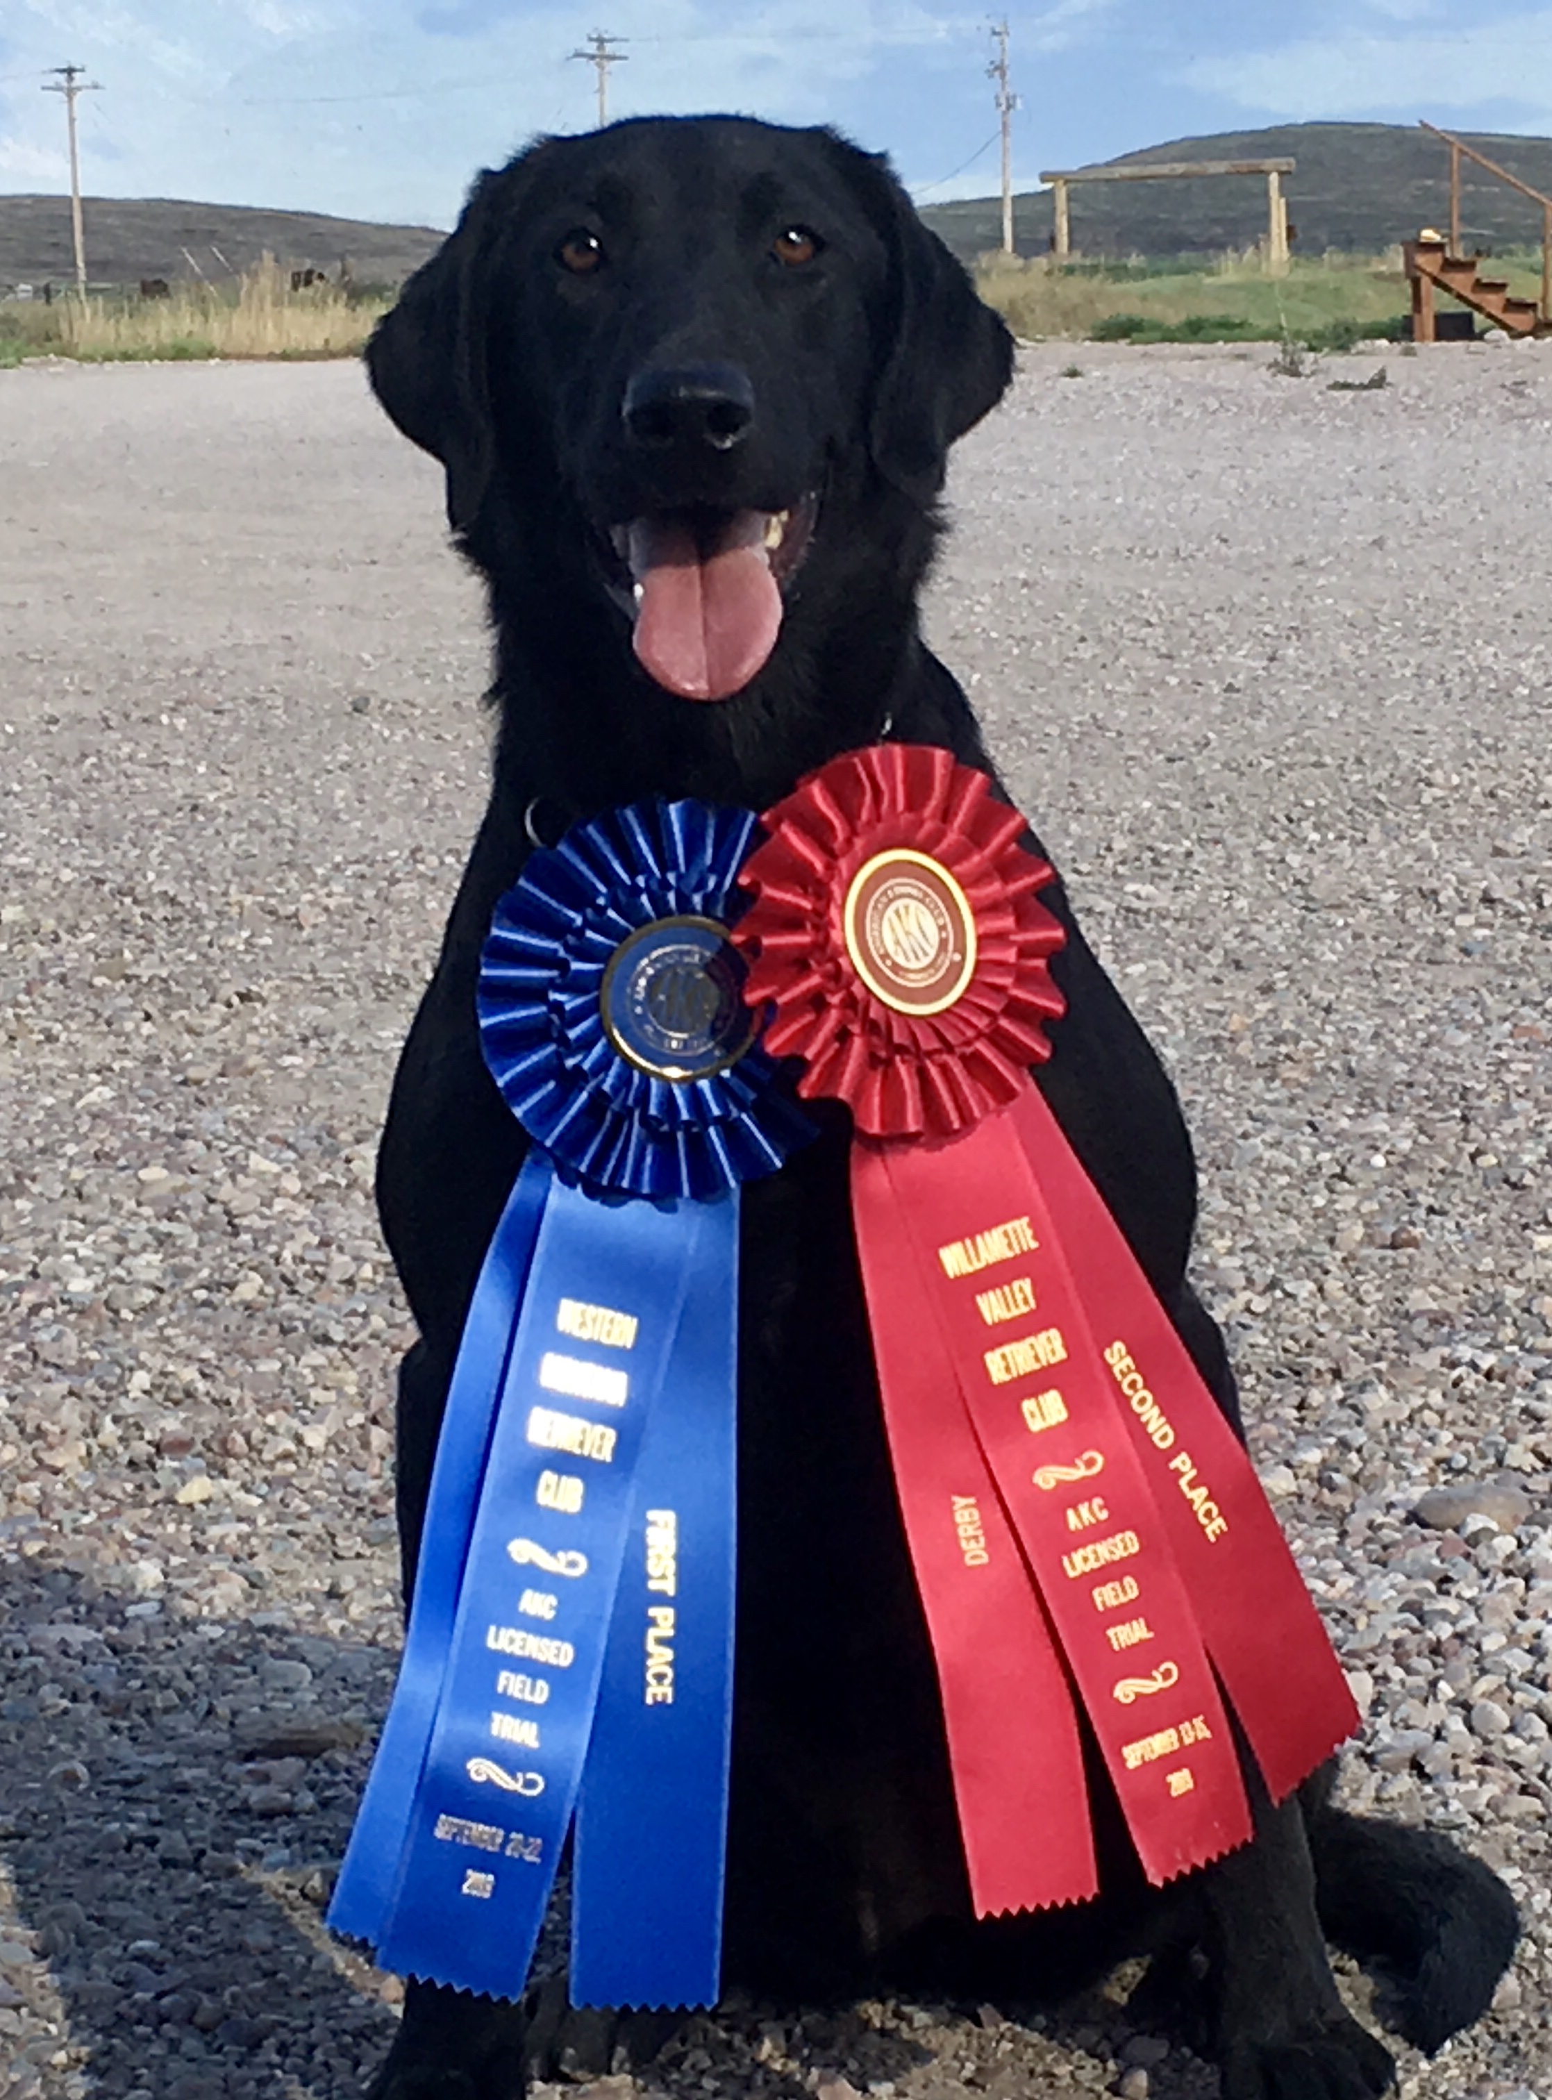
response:
[[[1514,292],[1539,296],[1539,254],[1504,256],[1495,273],[1506,275]],[[1394,328],[1409,309],[1399,250],[1298,260],[1285,277],[1268,277],[1254,256],[1178,271],[1157,265],[1147,271],[1056,269],[1044,258],[1008,267],[993,258],[979,271],[979,286],[1012,330],[1029,338],[1105,336],[1132,317],[1142,323],[1138,336],[1187,332],[1201,340],[1340,344]]]

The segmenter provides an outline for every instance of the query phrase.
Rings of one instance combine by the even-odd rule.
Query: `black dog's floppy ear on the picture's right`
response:
[[[922,502],[943,487],[949,445],[995,407],[1012,378],[1012,334],[964,265],[916,214],[888,162],[867,162],[888,239],[893,336],[874,397],[878,470]]]

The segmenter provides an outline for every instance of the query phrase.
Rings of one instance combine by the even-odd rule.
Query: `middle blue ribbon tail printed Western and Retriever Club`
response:
[[[550,1180],[380,1938],[399,1974],[489,1997],[525,1987],[704,1210]]]

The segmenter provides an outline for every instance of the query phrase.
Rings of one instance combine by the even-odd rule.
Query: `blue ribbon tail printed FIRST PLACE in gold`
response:
[[[582,1774],[573,2006],[720,1997],[733,1739],[737,1189],[701,1203],[695,1266],[636,1466]]]

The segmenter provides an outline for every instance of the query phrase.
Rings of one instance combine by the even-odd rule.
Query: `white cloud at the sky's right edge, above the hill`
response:
[[[1271,50],[1197,59],[1180,80],[1294,120],[1472,103],[1552,111],[1552,8],[1470,29],[1302,38]]]

